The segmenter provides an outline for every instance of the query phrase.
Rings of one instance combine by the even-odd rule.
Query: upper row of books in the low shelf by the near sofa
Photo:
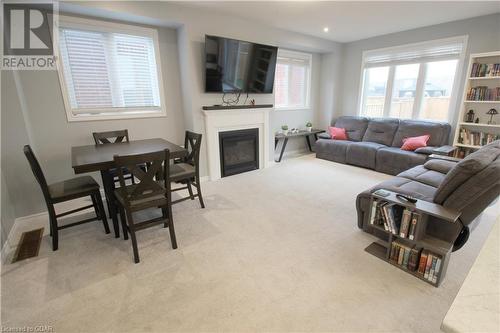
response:
[[[414,240],[421,215],[400,205],[383,200],[373,200],[370,223],[380,225],[384,230],[401,238]]]

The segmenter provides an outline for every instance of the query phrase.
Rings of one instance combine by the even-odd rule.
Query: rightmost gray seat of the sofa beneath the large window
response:
[[[382,148],[377,151],[375,170],[390,175],[424,164],[427,155],[417,154],[413,151],[401,150],[396,147]]]

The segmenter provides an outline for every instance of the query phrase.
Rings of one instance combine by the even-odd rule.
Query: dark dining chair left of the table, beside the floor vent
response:
[[[45,199],[45,204],[47,205],[47,210],[49,212],[49,230],[50,236],[52,237],[52,250],[56,251],[59,247],[59,230],[66,229],[75,225],[92,222],[96,220],[102,220],[104,225],[104,230],[109,234],[108,221],[106,219],[106,212],[104,211],[104,206],[102,204],[101,192],[99,184],[91,176],[81,176],[75,177],[68,180],[56,182],[53,184],[47,184],[45,176],[43,174],[40,163],[33,153],[33,150],[29,145],[24,146],[24,155],[28,159],[31,170],[37,180],[40,188],[42,189],[43,197]],[[56,214],[54,205],[60,202],[65,202],[73,199],[83,198],[90,196],[92,204],[76,209],[66,211],[64,213]],[[59,226],[57,224],[57,219],[63,216],[67,216],[82,210],[89,208],[94,208],[96,217],[91,217],[81,221],[65,224]]]

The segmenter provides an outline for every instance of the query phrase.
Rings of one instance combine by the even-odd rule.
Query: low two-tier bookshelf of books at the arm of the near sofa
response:
[[[395,192],[376,191],[370,201],[369,228],[385,237],[365,251],[438,287],[445,277],[454,241],[439,230],[443,223],[449,224],[446,233],[452,228],[458,235],[459,217],[457,211],[432,202],[410,203],[399,199]]]

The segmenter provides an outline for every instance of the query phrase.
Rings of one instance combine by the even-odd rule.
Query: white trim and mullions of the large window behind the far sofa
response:
[[[458,89],[460,88],[460,81],[461,81],[463,70],[464,70],[465,55],[467,54],[468,40],[469,40],[469,36],[463,35],[463,36],[435,39],[435,40],[430,40],[430,41],[424,41],[424,42],[418,42],[418,43],[404,44],[404,45],[398,45],[398,46],[363,51],[362,60],[361,60],[361,70],[360,70],[360,84],[359,84],[359,91],[358,91],[358,105],[357,105],[358,115],[365,116],[363,114],[364,98],[366,97],[366,94],[365,94],[365,88],[366,88],[365,87],[365,69],[368,68],[366,66],[366,58],[369,55],[376,54],[376,53],[383,53],[383,52],[390,53],[390,52],[396,52],[396,51],[401,51],[401,50],[411,50],[412,48],[419,48],[422,46],[439,45],[442,43],[449,43],[449,42],[458,41],[458,42],[461,42],[463,45],[462,51],[460,52],[460,55],[458,56],[458,58],[456,56],[453,56],[453,57],[444,56],[444,57],[439,57],[439,58],[435,59],[435,61],[458,59],[457,69],[455,72],[455,78],[453,81],[453,87],[452,87],[452,91],[451,91],[451,95],[450,95],[450,105],[448,107],[448,122],[453,123],[455,121],[455,118],[456,118],[458,112],[459,112],[459,110],[457,110],[457,108],[456,108],[457,103],[458,103]],[[393,93],[392,85],[393,85],[393,81],[394,81],[394,72],[395,72],[393,69],[395,68],[395,66],[403,65],[403,64],[411,64],[411,63],[422,63],[425,61],[430,61],[430,59],[428,59],[428,60],[419,59],[416,61],[403,61],[403,62],[396,61],[396,62],[389,62],[389,63],[381,63],[380,65],[377,66],[377,67],[385,67],[385,66],[389,67],[389,76],[387,79],[386,100],[385,100],[385,104],[384,104],[383,117],[389,117],[391,99],[389,99],[389,104],[387,104],[387,96],[392,98],[392,93]],[[424,73],[423,73],[424,76],[427,75],[427,72],[426,72],[427,66],[425,65],[425,63],[423,64],[423,66],[420,66],[420,67],[421,68],[419,70],[419,79],[420,79],[420,73],[422,70],[424,71]],[[422,68],[422,67],[424,67],[424,68]],[[391,69],[392,69],[392,75],[391,75]],[[424,84],[425,77],[423,77],[421,79],[422,79],[421,84]],[[391,90],[388,91],[387,89],[391,89]],[[417,91],[417,96],[415,96],[415,101],[413,104],[412,119],[424,120],[424,119],[419,118],[419,112],[421,112],[420,106],[421,106],[422,101],[419,100],[417,102],[416,99],[417,99],[417,97],[419,97],[418,95],[421,95],[421,93],[419,93]],[[421,98],[421,97],[422,96],[420,96],[419,98]],[[455,111],[452,111],[452,110],[455,110]]]

